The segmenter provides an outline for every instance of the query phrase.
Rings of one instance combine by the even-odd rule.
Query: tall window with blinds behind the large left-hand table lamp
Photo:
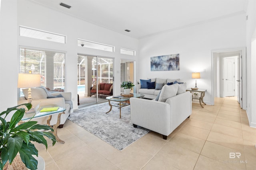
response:
[[[20,48],[20,73],[41,74],[41,85],[52,92],[65,91],[65,53]]]

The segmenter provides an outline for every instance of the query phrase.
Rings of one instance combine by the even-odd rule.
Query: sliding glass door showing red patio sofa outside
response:
[[[78,55],[79,106],[106,102],[105,84],[113,84],[113,58]]]

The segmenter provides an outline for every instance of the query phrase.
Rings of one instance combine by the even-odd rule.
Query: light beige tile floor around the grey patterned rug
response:
[[[119,151],[67,120],[58,129],[65,144],[36,144],[46,170],[255,170],[256,128],[235,98],[192,104],[192,115],[167,140],[150,132]],[[230,158],[240,156],[240,158]]]

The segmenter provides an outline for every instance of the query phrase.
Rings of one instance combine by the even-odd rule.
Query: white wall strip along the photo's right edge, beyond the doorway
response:
[[[247,108],[250,126],[256,127],[256,1],[248,1],[247,12],[248,20],[246,21],[246,66],[247,66]],[[253,46],[253,47],[252,47]]]

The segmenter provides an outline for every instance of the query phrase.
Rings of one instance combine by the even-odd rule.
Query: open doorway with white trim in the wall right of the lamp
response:
[[[214,97],[237,96],[240,107],[245,109],[245,48],[212,52],[212,102]],[[243,57],[244,56],[244,57]],[[244,93],[243,93],[244,92]]]

